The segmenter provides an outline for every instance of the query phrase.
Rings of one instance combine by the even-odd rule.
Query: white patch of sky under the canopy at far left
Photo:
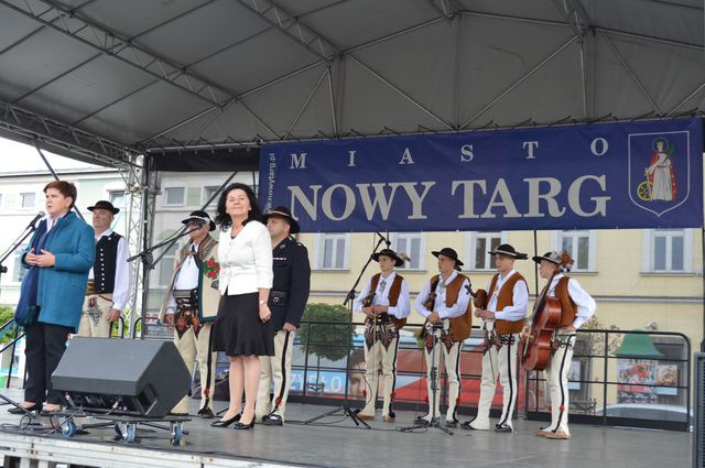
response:
[[[55,171],[98,167],[44,150],[42,152]],[[44,164],[34,146],[0,138],[0,174],[26,171],[44,171],[48,173],[46,164]]]

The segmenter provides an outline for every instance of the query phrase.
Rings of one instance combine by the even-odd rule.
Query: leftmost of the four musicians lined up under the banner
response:
[[[365,381],[362,394],[366,404],[358,416],[375,418],[379,371],[384,376],[384,398],[382,420],[395,421],[392,411],[397,385],[397,352],[399,330],[406,324],[410,314],[409,285],[406,280],[394,272],[404,261],[391,249],[382,249],[372,254],[379,263],[380,273],[370,277],[354,304],[354,311],[365,314]]]

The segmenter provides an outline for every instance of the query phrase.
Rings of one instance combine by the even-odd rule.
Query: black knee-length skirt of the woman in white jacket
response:
[[[213,350],[227,356],[274,356],[272,320],[262,323],[259,293],[224,295],[213,326]]]

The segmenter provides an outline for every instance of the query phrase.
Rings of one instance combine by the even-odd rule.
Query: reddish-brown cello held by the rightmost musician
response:
[[[563,252],[561,263],[555,265],[546,287],[534,305],[531,315],[531,328],[528,336],[523,338],[521,362],[527,370],[545,370],[551,360],[553,355],[553,333],[561,323],[562,308],[561,302],[556,297],[547,297],[549,286],[561,269],[572,263],[571,257]]]

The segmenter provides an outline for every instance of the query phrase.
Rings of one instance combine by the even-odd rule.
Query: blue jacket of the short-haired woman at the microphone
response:
[[[30,246],[33,241],[34,239]],[[22,254],[22,264],[25,266],[24,257],[29,249]],[[36,304],[40,306],[37,320],[70,327],[76,333],[86,296],[88,272],[96,255],[94,230],[70,211],[59,218],[48,231],[44,250],[54,254],[56,264],[40,269],[36,291]]]

